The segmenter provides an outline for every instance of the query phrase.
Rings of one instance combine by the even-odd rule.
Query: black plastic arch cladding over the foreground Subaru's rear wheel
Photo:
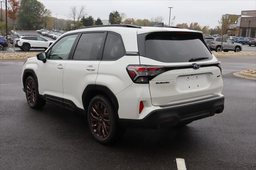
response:
[[[104,85],[87,85],[86,88],[84,89],[84,92],[82,94],[82,103],[84,106],[84,110],[87,111],[88,106],[92,98],[96,95],[103,95],[104,97],[107,97],[110,102],[112,103],[114,107],[114,111],[116,113],[116,118],[118,119],[118,100],[114,93],[106,86]]]

